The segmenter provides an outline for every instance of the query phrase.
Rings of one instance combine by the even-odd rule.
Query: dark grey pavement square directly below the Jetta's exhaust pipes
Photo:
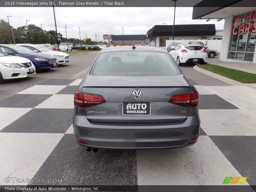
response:
[[[137,185],[136,151],[99,149],[96,153],[88,152],[86,147],[76,143],[73,134],[65,134],[34,178],[62,179],[58,185]]]

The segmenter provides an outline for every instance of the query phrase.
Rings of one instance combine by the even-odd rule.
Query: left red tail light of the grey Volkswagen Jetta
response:
[[[82,93],[76,91],[74,95],[74,104],[77,107],[92,107],[105,102],[106,101],[103,96],[98,94]]]

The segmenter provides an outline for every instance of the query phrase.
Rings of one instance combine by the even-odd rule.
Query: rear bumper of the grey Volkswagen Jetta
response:
[[[111,149],[186,147],[199,136],[200,118],[188,116],[177,123],[95,123],[74,115],[75,138],[84,146]]]

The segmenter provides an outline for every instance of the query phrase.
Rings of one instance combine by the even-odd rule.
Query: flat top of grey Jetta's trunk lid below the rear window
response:
[[[94,76],[86,77],[84,87],[187,87],[183,75],[172,76]]]

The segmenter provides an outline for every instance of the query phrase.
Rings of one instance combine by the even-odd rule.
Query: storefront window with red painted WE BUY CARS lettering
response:
[[[252,61],[256,44],[256,10],[234,16],[229,59]]]

